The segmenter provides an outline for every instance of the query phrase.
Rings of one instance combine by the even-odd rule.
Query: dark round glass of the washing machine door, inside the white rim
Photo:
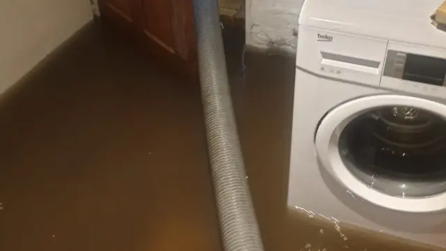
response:
[[[446,121],[417,107],[379,107],[341,132],[339,153],[360,181],[395,197],[446,192]]]

